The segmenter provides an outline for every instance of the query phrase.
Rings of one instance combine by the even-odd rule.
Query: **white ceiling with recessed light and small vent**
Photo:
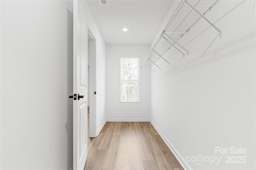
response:
[[[173,0],[88,0],[106,44],[151,44]],[[128,28],[124,32],[122,29]]]

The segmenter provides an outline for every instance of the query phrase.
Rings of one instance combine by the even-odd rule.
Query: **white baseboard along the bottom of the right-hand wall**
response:
[[[184,170],[192,170],[192,168],[188,165],[188,163],[184,160],[184,158],[180,155],[178,150],[174,148],[172,143],[163,135],[163,133],[158,129],[158,127],[154,124],[152,120],[150,120],[150,123],[154,126],[156,131],[159,133],[159,135],[162,137],[166,145],[169,147],[169,149],[172,151],[176,159],[180,162],[181,166],[184,168]]]

